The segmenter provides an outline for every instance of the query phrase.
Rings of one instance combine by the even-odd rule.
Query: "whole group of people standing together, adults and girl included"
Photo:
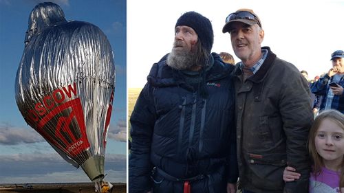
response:
[[[202,14],[175,24],[131,114],[129,192],[344,193],[344,52],[308,82],[261,47],[253,10],[229,14],[222,32],[239,63],[211,52]]]

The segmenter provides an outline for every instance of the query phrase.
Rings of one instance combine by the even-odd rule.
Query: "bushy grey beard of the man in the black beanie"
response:
[[[167,65],[178,70],[191,69],[196,65],[196,61],[196,54],[186,49],[178,51],[172,49],[172,52],[167,56]]]

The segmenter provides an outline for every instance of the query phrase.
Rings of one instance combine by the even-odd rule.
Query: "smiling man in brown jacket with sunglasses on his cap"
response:
[[[241,60],[233,71],[239,186],[243,193],[308,192],[310,88],[294,65],[261,47],[261,26],[255,12],[241,9],[222,29]],[[287,165],[297,168],[299,180],[284,183]]]

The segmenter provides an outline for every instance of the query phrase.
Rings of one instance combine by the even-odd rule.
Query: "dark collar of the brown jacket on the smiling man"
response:
[[[258,83],[264,80],[267,76],[268,70],[275,64],[275,60],[277,58],[276,54],[271,52],[270,47],[261,47],[262,49],[268,49],[268,56],[264,60],[263,65],[261,65],[260,69],[254,75],[250,76],[248,80]],[[234,76],[239,77],[243,72],[239,68],[239,65],[235,66]]]

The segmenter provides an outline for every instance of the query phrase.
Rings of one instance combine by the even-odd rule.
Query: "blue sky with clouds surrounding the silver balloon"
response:
[[[24,37],[34,0],[0,0],[0,183],[87,182],[82,169],[63,160],[28,126],[14,99],[14,79],[24,49]],[[114,51],[116,89],[111,115],[105,178],[126,181],[127,89],[126,1],[52,1],[65,19],[87,21],[103,30]]]

